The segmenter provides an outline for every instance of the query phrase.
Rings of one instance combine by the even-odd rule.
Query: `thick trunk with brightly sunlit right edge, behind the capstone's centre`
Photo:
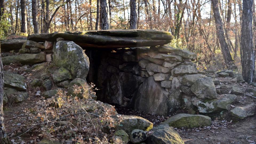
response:
[[[107,0],[100,1],[101,6],[101,29],[107,30],[109,29],[109,6]]]

